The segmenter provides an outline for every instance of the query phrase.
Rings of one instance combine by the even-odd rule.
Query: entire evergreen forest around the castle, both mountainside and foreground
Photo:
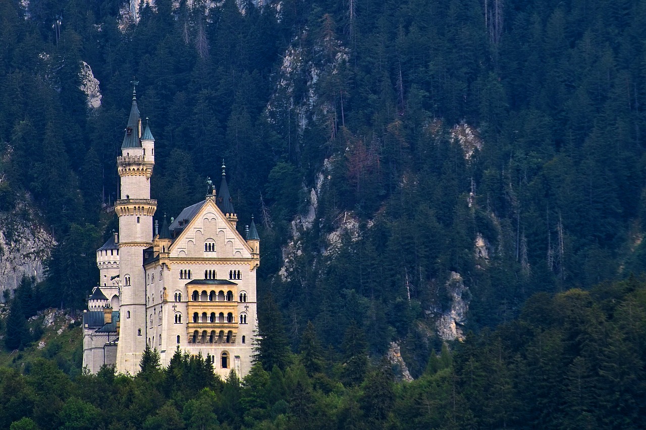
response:
[[[223,159],[240,232],[255,216],[263,336],[244,380],[154,350],[89,375],[80,338],[14,360],[0,427],[643,427],[646,0],[2,0],[0,21],[0,212],[56,240],[5,291],[3,349],[96,285],[135,82],[156,217]]]

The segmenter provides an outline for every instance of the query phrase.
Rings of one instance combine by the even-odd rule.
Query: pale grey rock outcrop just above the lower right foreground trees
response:
[[[451,308],[441,312],[437,320],[437,334],[443,340],[463,340],[462,327],[466,323],[466,312],[469,309],[468,288],[464,286],[462,276],[451,272],[446,282],[446,289],[451,295]]]

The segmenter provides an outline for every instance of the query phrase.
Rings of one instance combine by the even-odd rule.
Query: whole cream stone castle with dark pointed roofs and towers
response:
[[[147,345],[168,365],[177,347],[202,354],[216,373],[251,369],[257,328],[256,269],[260,240],[251,217],[243,238],[224,163],[219,190],[209,179],[203,201],[171,223],[154,221],[154,138],[142,127],[136,93],[117,167],[119,233],[96,251],[99,285],[83,312],[83,366],[116,365],[136,374]]]

